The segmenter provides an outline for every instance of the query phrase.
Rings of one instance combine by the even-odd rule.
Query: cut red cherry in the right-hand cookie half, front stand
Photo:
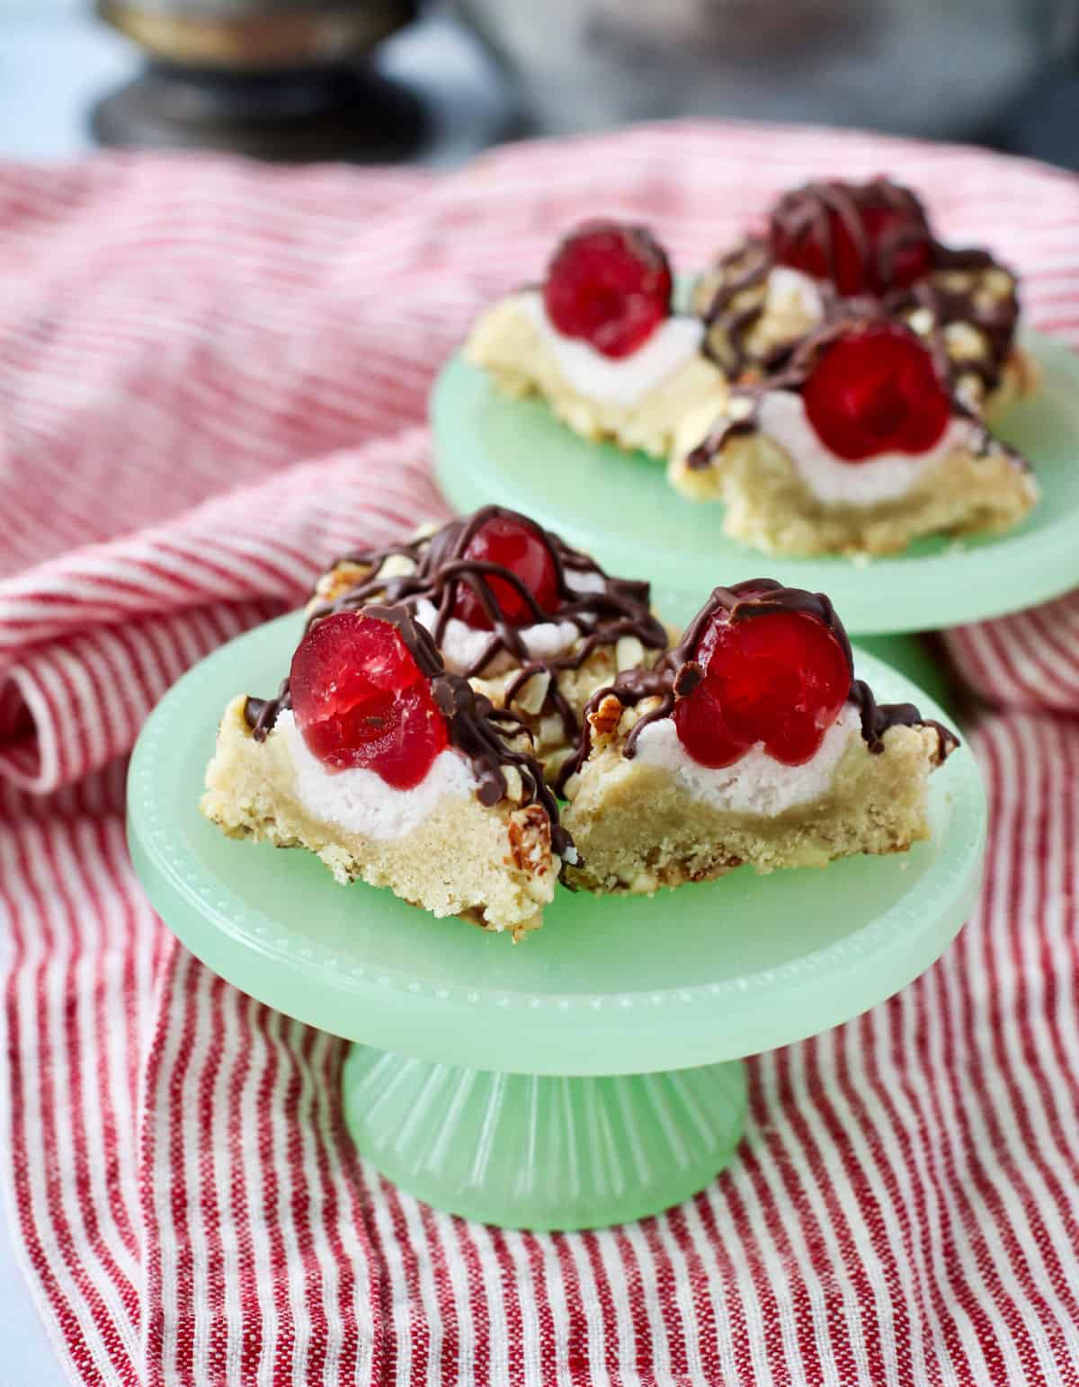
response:
[[[698,646],[703,681],[674,705],[678,739],[702,766],[730,766],[757,742],[802,766],[820,748],[850,689],[835,632],[809,612],[731,621],[717,613]]]

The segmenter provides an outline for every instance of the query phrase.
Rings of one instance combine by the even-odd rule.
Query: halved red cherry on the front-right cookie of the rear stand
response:
[[[879,323],[825,347],[802,390],[818,438],[847,462],[926,452],[951,417],[929,351],[904,327]]]

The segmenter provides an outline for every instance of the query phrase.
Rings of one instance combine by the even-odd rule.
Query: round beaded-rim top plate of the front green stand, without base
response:
[[[524,1074],[639,1074],[785,1044],[865,1010],[951,938],[978,881],[985,804],[964,748],[932,778],[933,841],[827,871],[645,897],[559,890],[520,945],[435,920],[388,890],[338,886],[304,852],[223,838],[196,803],[218,717],[277,687],[302,617],[272,621],[186,674],[150,717],[129,781],[130,846],[194,953],[275,1007],[423,1060]],[[921,703],[868,656],[888,700]]]

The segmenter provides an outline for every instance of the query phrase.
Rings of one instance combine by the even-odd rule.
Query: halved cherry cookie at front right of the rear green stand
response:
[[[814,333],[785,372],[736,387],[718,419],[687,416],[668,476],[693,501],[724,501],[727,534],[795,555],[1008,530],[1039,494],[939,352],[879,313]]]

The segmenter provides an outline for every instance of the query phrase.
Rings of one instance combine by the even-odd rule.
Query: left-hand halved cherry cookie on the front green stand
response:
[[[402,606],[312,617],[277,698],[225,709],[201,810],[515,938],[576,859],[527,730],[447,673]]]

